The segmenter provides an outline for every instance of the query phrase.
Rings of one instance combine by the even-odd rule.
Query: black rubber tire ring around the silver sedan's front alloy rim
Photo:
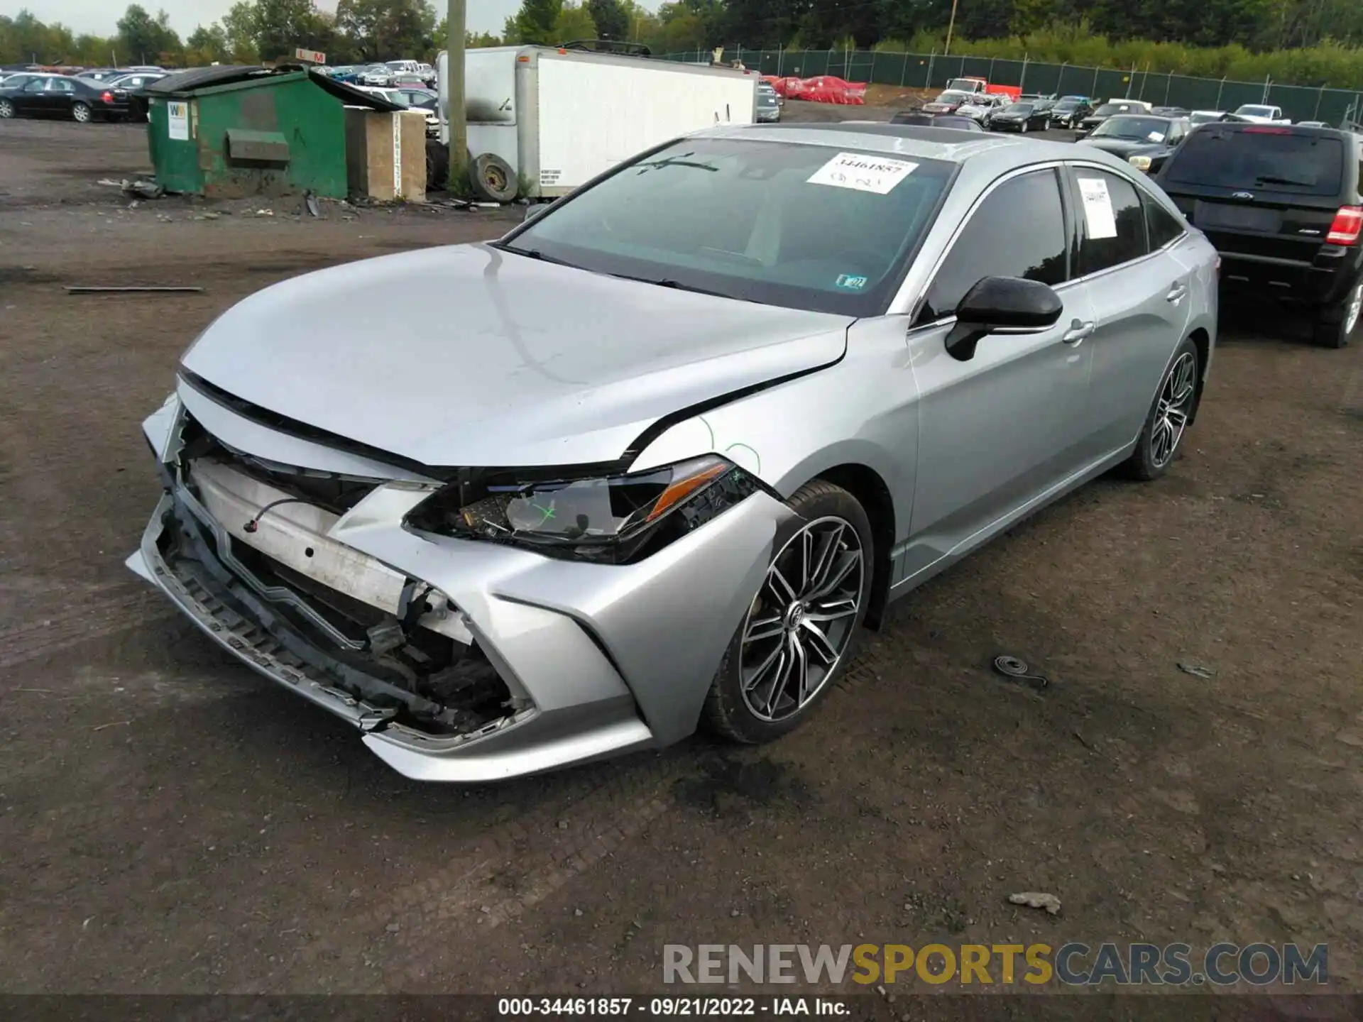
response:
[[[771,741],[795,730],[814,714],[818,706],[827,698],[827,694],[837,685],[838,679],[842,677],[848,664],[856,654],[861,624],[866,620],[867,602],[871,595],[871,582],[875,574],[876,552],[871,536],[871,523],[861,504],[851,493],[829,484],[812,484],[797,491],[791,499],[789,506],[796,514],[777,529],[771,542],[771,559],[774,560],[785,549],[791,538],[807,523],[819,518],[841,518],[856,530],[857,538],[861,541],[861,601],[852,624],[852,634],[833,673],[825,679],[823,685],[808,703],[797,713],[781,721],[763,721],[758,718],[748,709],[747,700],[743,698],[740,661],[743,630],[747,624],[747,610],[744,610],[743,620],[739,621],[739,627],[735,630],[733,638],[729,639],[729,645],[724,651],[724,660],[714,680],[714,699],[718,703],[720,713],[728,721],[733,736],[740,741],[754,744]],[[765,579],[766,572],[763,571],[763,582]],[[756,593],[752,595],[756,598]]]

